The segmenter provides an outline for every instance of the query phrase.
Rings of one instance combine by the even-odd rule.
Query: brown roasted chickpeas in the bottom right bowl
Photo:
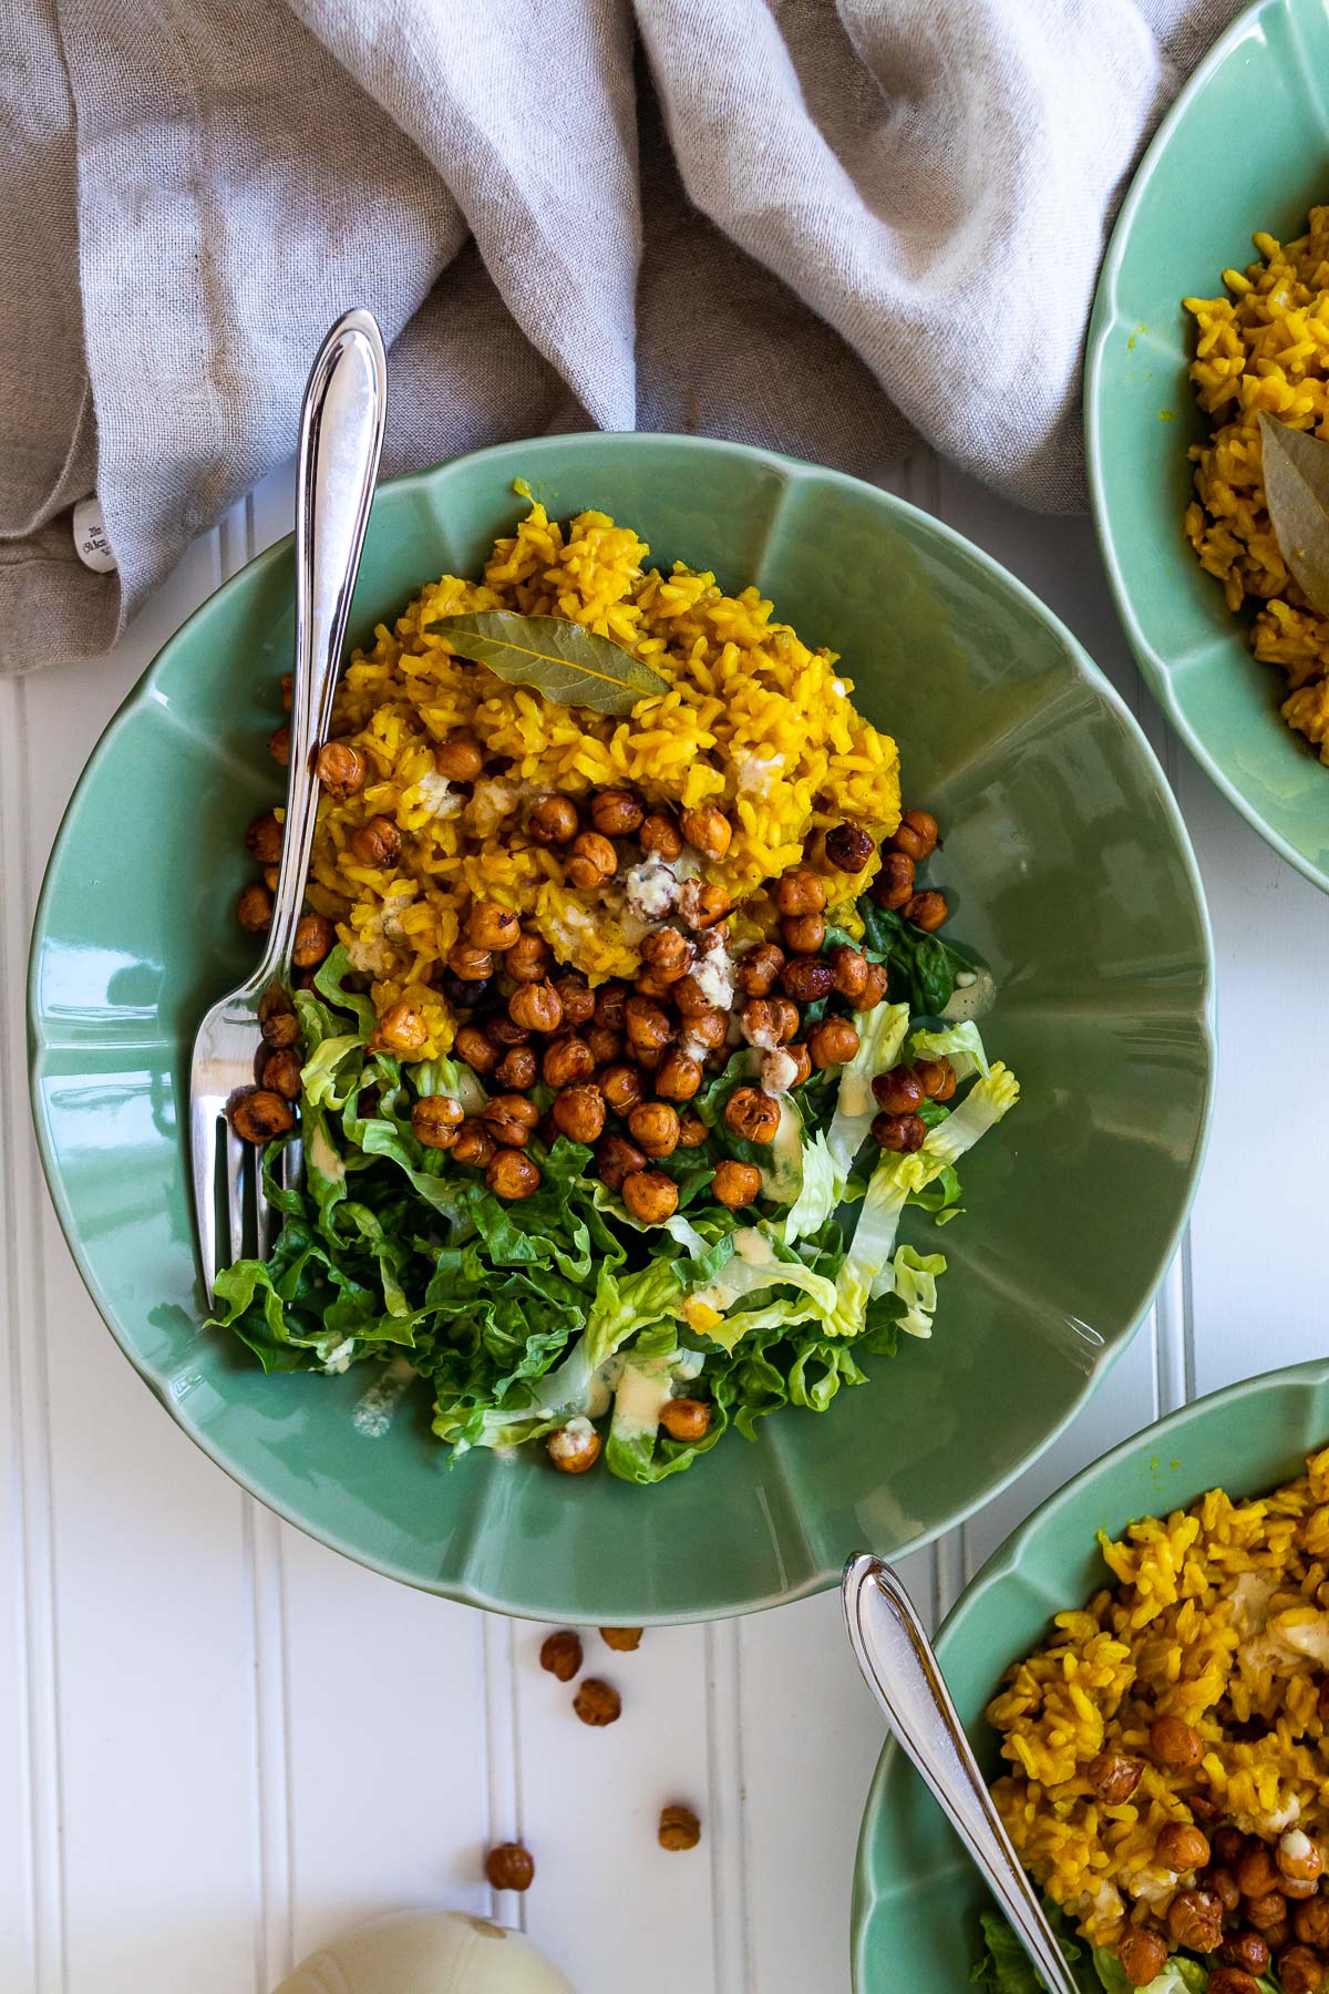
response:
[[[1170,1773],[1190,1773],[1203,1759],[1203,1741],[1180,1717],[1150,1727],[1150,1759]],[[1088,1783],[1104,1807],[1124,1807],[1140,1785],[1142,1759],[1100,1753]],[[1203,1795],[1192,1813],[1207,1813]],[[1257,1994],[1271,1966],[1285,1994],[1319,1994],[1329,1976],[1329,1896],[1323,1856],[1301,1828],[1267,1842],[1231,1823],[1199,1827],[1170,1821],[1154,1846],[1154,1866],[1170,1870],[1182,1888],[1164,1922],[1132,1924],[1118,1944],[1132,1986],[1148,1986],[1172,1950],[1217,1954],[1207,1994]]]

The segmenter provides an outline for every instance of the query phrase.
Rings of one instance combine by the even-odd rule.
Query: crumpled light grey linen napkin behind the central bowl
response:
[[[385,471],[677,429],[1082,500],[1144,138],[1235,0],[24,0],[0,66],[0,670],[96,656],[293,451],[349,305]],[[94,493],[118,566],[74,548]]]

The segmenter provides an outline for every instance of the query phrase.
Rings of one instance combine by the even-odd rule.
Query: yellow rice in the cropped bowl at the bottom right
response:
[[[1166,1916],[1196,1876],[1156,1860],[1168,1823],[1233,1823],[1329,1848],[1329,1448],[1257,1501],[1211,1490],[1102,1551],[1116,1589],[1058,1613],[1046,1647],[988,1707],[1010,1773],[996,1803],[1026,1868],[1094,1944]],[[1197,1763],[1152,1753],[1156,1719],[1197,1733]],[[1122,1805],[1088,1777],[1142,1765]]]

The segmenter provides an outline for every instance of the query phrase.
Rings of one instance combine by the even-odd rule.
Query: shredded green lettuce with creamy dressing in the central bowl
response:
[[[305,1178],[267,1192],[283,1216],[267,1262],[217,1276],[215,1326],[269,1372],[339,1374],[402,1360],[434,1400],[432,1428],[454,1456],[512,1448],[570,1420],[606,1420],[604,1458],[626,1482],[689,1468],[729,1426],[753,1438],[781,1406],[825,1412],[863,1360],[899,1336],[930,1336],[944,1254],[901,1240],[960,1212],[956,1164],[1018,1099],[978,1027],[942,1013],[962,957],[869,901],[863,947],[907,1001],[861,1013],[859,1053],[781,1097],[773,1145],[735,1137],[723,1109],[755,1077],[737,1051],[693,1107],[697,1149],[654,1166],[675,1178],[677,1212],[642,1226],[594,1176],[590,1149],[532,1139],[540,1188],[502,1202],[478,1170],[424,1149],[410,1129],[422,1095],[478,1113],[486,1089],[452,1059],[402,1065],[371,1049],[375,1011],[351,985],[345,947],[297,991],[307,1047],[301,1135]],[[873,1079],[913,1059],[950,1059],[960,1091],[925,1103],[915,1155],[871,1137]],[[534,1101],[548,1107],[548,1089]],[[723,1157],[763,1172],[759,1206],[733,1212],[711,1194]],[[711,1424],[677,1442],[660,1426],[669,1396],[703,1396]]]

